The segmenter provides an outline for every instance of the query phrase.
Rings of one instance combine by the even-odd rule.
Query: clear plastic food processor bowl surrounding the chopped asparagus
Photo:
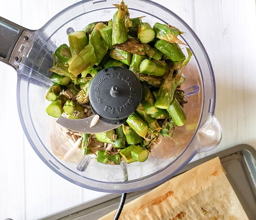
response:
[[[164,141],[152,151],[154,156],[144,163],[112,166],[91,160],[86,171],[78,164],[83,159],[72,148],[56,126],[55,119],[45,109],[49,102],[46,91],[52,85],[47,74],[52,66],[52,53],[68,43],[66,30],[82,30],[87,24],[112,19],[116,0],[80,1],[54,16],[37,30],[33,44],[18,69],[18,109],[27,139],[37,155],[54,172],[76,185],[91,190],[121,193],[143,190],[166,181],[181,170],[198,152],[210,151],[221,141],[222,131],[214,116],[215,80],[208,55],[192,29],[172,11],[146,0],[127,2],[130,17],[171,24],[184,31],[182,40],[193,52],[184,71],[186,81],[182,89],[188,103],[184,105],[187,122],[175,130],[171,140]],[[184,54],[187,52],[183,48]]]

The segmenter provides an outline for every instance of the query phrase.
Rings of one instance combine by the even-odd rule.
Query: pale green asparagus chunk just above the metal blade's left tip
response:
[[[46,108],[47,114],[54,118],[59,118],[64,111],[63,106],[67,100],[67,96],[59,95],[58,99],[50,103],[50,105]]]

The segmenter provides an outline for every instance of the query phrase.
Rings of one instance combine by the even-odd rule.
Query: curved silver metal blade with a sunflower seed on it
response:
[[[93,119],[93,117],[94,115],[84,119],[69,119],[69,118],[59,117],[56,122],[59,125],[69,130],[74,130],[75,132],[86,133],[86,134],[107,132],[109,130],[118,128],[119,126],[122,125],[122,124],[111,125],[99,120],[96,125],[90,128],[91,120]]]

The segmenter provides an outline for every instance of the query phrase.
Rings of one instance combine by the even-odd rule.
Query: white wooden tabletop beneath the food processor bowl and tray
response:
[[[255,0],[155,0],[196,32],[211,59],[221,144],[196,159],[245,143],[256,147]],[[0,16],[38,29],[76,0],[0,0]],[[129,4],[129,0],[125,1]],[[59,177],[30,147],[16,107],[16,73],[0,63],[0,219],[39,219],[104,193]],[[7,98],[6,98],[7,97]]]

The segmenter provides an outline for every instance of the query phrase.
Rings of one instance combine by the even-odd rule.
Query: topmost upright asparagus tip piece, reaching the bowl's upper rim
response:
[[[114,6],[118,8],[118,11],[113,16],[112,45],[127,41],[128,28],[132,26],[132,22],[129,20],[128,7],[124,1],[120,5],[114,4]]]

